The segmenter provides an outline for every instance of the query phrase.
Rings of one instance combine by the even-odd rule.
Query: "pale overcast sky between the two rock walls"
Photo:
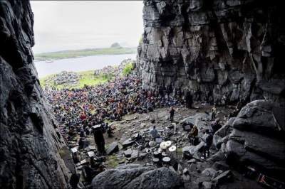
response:
[[[31,1],[34,53],[135,47],[143,31],[142,1]]]

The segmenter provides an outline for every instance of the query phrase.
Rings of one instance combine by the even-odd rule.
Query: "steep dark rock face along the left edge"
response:
[[[68,149],[37,79],[33,43],[29,2],[0,1],[0,188],[67,188]]]

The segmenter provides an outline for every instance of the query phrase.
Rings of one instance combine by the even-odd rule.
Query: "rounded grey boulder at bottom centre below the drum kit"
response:
[[[92,188],[180,188],[182,179],[169,168],[129,164],[104,171],[92,180]]]

